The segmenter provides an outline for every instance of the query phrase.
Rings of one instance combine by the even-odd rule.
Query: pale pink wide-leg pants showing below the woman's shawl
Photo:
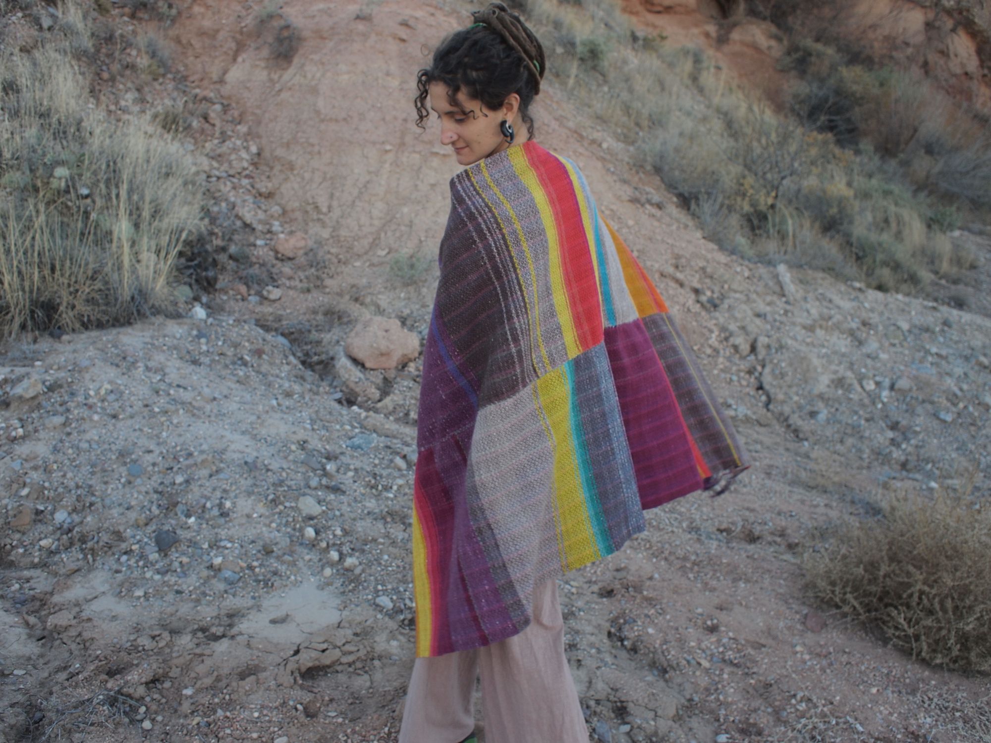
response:
[[[486,743],[589,743],[564,656],[556,581],[534,587],[532,613],[526,629],[501,642],[417,658],[399,743],[459,743],[468,737],[480,673]]]

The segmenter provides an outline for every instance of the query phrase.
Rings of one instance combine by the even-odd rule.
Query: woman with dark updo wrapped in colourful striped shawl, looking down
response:
[[[415,101],[465,169],[423,358],[399,740],[474,740],[481,671],[489,743],[582,743],[556,579],[748,464],[581,171],[533,140],[540,43],[501,3],[474,16]]]

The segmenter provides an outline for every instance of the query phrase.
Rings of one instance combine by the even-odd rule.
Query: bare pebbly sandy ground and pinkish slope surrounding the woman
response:
[[[0,358],[0,737],[395,740],[419,361],[345,369],[340,349],[368,314],[425,335],[457,164],[412,126],[411,80],[421,45],[468,7],[299,0],[265,20],[261,4],[180,3],[175,73],[108,75],[108,99],[178,90],[197,106],[186,136],[220,279],[196,291],[205,319]],[[298,47],[279,56],[286,20]],[[882,492],[952,488],[976,467],[988,502],[986,305],[723,254],[553,83],[535,113],[755,460],[561,583],[593,740],[991,740],[987,678],[916,663],[814,605],[801,569]],[[991,245],[957,239],[986,296]]]

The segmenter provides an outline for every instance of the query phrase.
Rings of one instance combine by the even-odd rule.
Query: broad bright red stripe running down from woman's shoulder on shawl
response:
[[[585,231],[575,184],[565,164],[546,150],[531,148],[524,149],[523,153],[551,207],[565,294],[575,323],[579,351],[585,351],[603,341],[603,307],[596,267],[592,262],[593,247]]]

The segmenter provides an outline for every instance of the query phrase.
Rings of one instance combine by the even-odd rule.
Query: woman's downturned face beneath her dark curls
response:
[[[440,144],[454,150],[461,165],[470,165],[480,159],[505,150],[509,143],[502,137],[499,124],[505,119],[513,123],[517,112],[513,93],[501,108],[486,108],[482,101],[467,98],[458,91],[458,105],[448,99],[449,88],[442,82],[430,83],[430,108],[440,118]],[[517,131],[516,139],[519,140]]]

